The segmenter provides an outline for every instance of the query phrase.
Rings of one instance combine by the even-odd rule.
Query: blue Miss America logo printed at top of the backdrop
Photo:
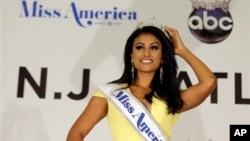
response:
[[[110,10],[81,9],[75,2],[71,2],[67,9],[48,8],[38,1],[21,1],[22,18],[63,18],[74,19],[76,24],[83,28],[93,25],[120,25],[122,21],[137,20],[136,11],[120,10],[114,6]]]

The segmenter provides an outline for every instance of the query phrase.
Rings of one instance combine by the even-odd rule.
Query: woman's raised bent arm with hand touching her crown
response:
[[[173,42],[175,54],[190,65],[198,79],[197,84],[181,92],[183,107],[178,112],[184,112],[201,104],[215,89],[217,79],[212,71],[183,44],[176,29],[166,26],[165,30]]]

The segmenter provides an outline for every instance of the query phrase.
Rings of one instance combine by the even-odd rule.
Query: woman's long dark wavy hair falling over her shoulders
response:
[[[131,53],[133,48],[133,43],[136,37],[142,33],[150,33],[156,36],[162,44],[162,64],[163,76],[162,82],[160,80],[160,67],[156,70],[155,76],[152,82],[152,91],[146,95],[146,99],[152,102],[152,97],[156,96],[160,100],[163,100],[168,107],[169,113],[175,114],[179,110],[183,102],[180,98],[179,82],[177,80],[177,69],[178,65],[174,55],[174,48],[166,36],[166,34],[159,28],[154,26],[145,26],[136,29],[127,39],[125,50],[124,50],[124,71],[121,77],[111,83],[127,83],[127,87],[130,87],[133,83],[132,79],[132,63],[131,63]],[[134,71],[134,78],[137,77],[136,70]],[[156,95],[154,95],[156,93]]]

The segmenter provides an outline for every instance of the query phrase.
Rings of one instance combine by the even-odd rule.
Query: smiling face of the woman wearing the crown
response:
[[[131,54],[137,72],[155,72],[162,60],[161,42],[150,33],[142,33],[135,38]]]

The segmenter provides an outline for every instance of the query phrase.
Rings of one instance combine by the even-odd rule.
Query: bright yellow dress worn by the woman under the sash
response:
[[[129,88],[126,90],[130,91]],[[94,96],[105,97],[105,94],[96,90]],[[153,97],[152,101],[151,114],[166,133],[168,140],[170,140],[173,126],[175,125],[179,114],[168,114],[166,105],[155,97]],[[143,141],[142,137],[136,132],[123,114],[120,113],[109,101],[107,119],[114,141]]]

